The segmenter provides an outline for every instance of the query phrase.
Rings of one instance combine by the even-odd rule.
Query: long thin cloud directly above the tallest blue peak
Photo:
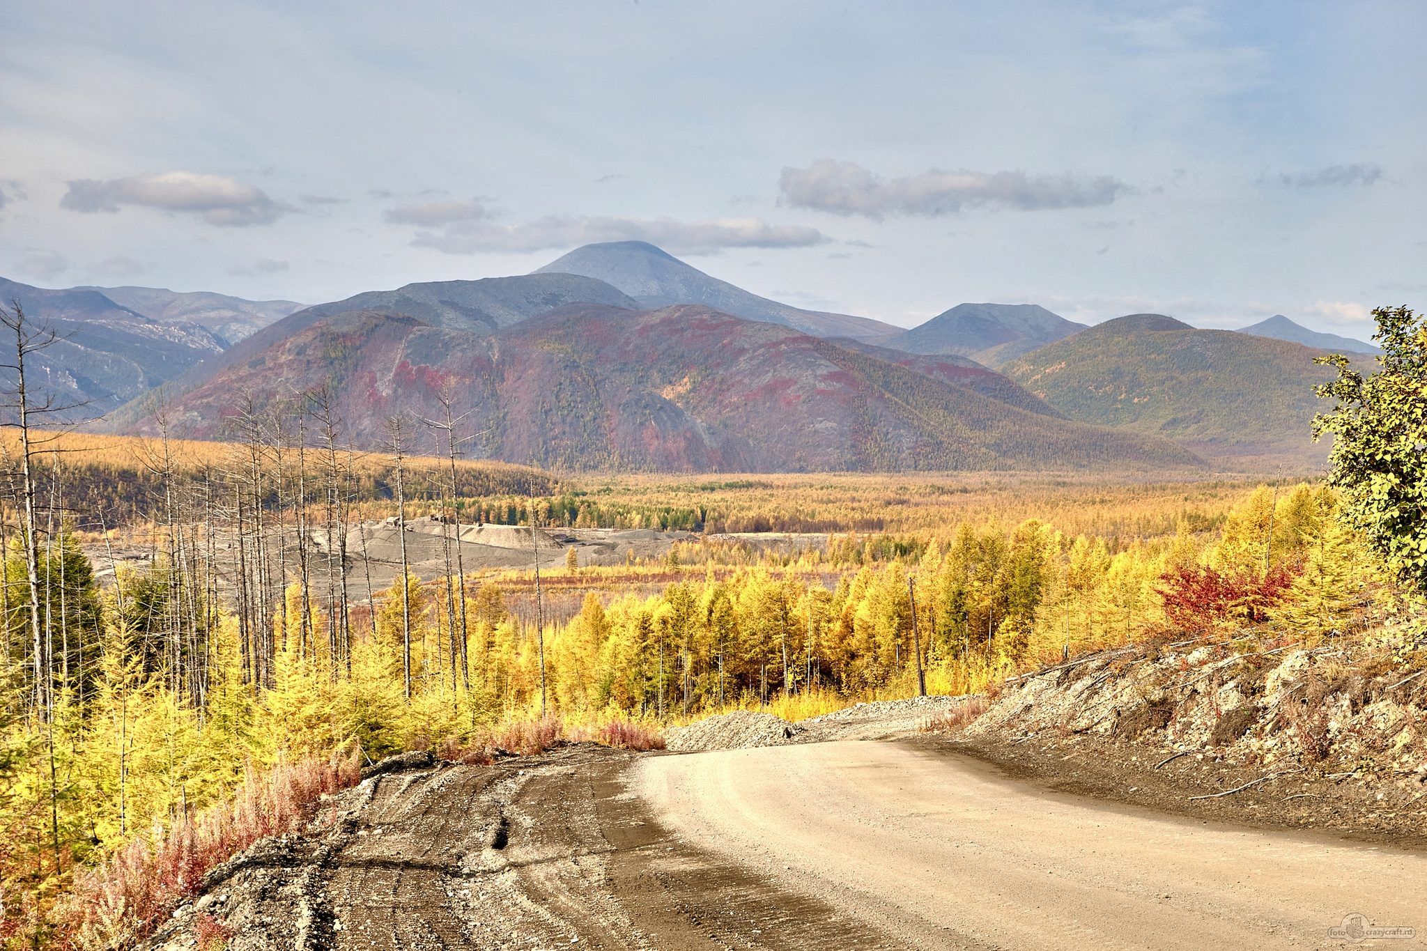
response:
[[[424,231],[414,245],[447,254],[478,251],[545,251],[601,241],[648,241],[674,254],[718,254],[723,248],[806,248],[831,241],[816,228],[771,225],[759,218],[569,218],[548,217],[514,225],[497,225],[479,218],[451,221],[437,231]]]

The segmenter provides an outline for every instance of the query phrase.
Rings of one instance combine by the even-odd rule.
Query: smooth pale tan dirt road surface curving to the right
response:
[[[1353,913],[1427,947],[1427,855],[1202,823],[1012,781],[936,743],[642,759],[666,828],[899,944],[1344,947]],[[1367,942],[1374,947],[1373,941]]]

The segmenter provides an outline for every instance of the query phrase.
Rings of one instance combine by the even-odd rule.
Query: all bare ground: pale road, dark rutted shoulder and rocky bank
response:
[[[665,751],[405,754],[144,947],[1301,948],[1353,914],[1427,935],[1427,694],[1398,680],[1331,643],[1196,640],[996,696],[733,711]]]

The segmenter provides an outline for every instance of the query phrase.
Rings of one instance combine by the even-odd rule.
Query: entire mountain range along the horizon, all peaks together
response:
[[[83,415],[110,411],[110,432],[153,432],[157,386],[183,435],[217,438],[237,406],[328,381],[372,448],[385,416],[430,416],[432,386],[457,381],[461,412],[484,421],[472,455],[567,468],[1313,463],[1311,386],[1330,372],[1311,362],[1324,349],[1293,341],[1368,346],[1281,315],[1243,332],[1144,314],[1086,328],[1030,304],[962,304],[903,331],[758,297],[636,241],[305,308],[0,294],[60,331],[44,382],[90,401]]]

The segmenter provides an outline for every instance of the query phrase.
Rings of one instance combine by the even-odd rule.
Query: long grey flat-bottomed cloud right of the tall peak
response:
[[[862,165],[825,158],[808,168],[783,168],[783,201],[841,215],[948,215],[963,208],[1017,211],[1107,205],[1129,185],[1099,175],[1027,175],[1023,171],[932,171],[883,180]]]

